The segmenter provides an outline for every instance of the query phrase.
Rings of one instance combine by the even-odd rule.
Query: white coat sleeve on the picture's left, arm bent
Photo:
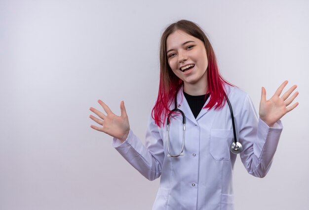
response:
[[[147,147],[142,144],[132,130],[129,131],[129,135],[123,143],[114,138],[113,146],[148,180],[160,177],[164,159],[163,142],[152,117],[150,117],[146,132]]]

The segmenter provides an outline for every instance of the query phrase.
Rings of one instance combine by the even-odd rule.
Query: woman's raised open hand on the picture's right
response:
[[[261,120],[263,120],[270,127],[272,127],[276,121],[280,120],[280,118],[282,118],[286,113],[292,111],[298,105],[298,102],[296,102],[289,106],[298,95],[298,92],[295,92],[291,97],[289,97],[297,88],[296,85],[292,86],[280,97],[280,94],[286,84],[288,84],[288,81],[284,81],[269,100],[266,100],[266,90],[262,87],[259,115]]]

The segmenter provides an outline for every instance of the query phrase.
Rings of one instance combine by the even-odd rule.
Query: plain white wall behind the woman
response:
[[[300,105],[269,174],[237,158],[237,210],[307,210],[309,195],[309,3],[307,0],[0,0],[0,210],[149,210],[148,181],[90,128],[105,101],[144,141],[158,90],[158,47],[177,20],[208,34],[223,76],[258,111],[284,81]]]

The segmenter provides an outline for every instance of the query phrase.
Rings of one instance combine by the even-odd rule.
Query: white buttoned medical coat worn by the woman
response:
[[[243,147],[241,161],[249,174],[262,178],[270,169],[282,124],[279,120],[269,127],[258,118],[244,91],[226,88],[236,136]],[[125,142],[114,139],[113,146],[147,179],[161,176],[153,210],[233,210],[232,172],[236,154],[230,151],[233,130],[228,104],[217,110],[202,109],[195,119],[182,89],[177,93],[177,102],[186,116],[184,156],[167,157],[166,123],[158,127],[152,117],[146,146],[132,130]],[[174,103],[170,106],[173,108]],[[170,151],[178,154],[182,147],[182,117],[177,115],[170,121]]]

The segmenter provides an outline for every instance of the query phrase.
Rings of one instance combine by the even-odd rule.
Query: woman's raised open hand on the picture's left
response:
[[[121,111],[120,116],[115,115],[103,101],[98,100],[98,102],[106,112],[106,115],[96,110],[95,108],[90,107],[89,110],[95,113],[100,119],[92,115],[90,115],[89,118],[91,120],[94,120],[98,124],[102,125],[102,126],[91,125],[90,127],[95,130],[107,133],[110,136],[113,136],[124,142],[128,137],[130,131],[129,119],[125,111],[124,102],[123,101],[120,102],[120,111]]]

